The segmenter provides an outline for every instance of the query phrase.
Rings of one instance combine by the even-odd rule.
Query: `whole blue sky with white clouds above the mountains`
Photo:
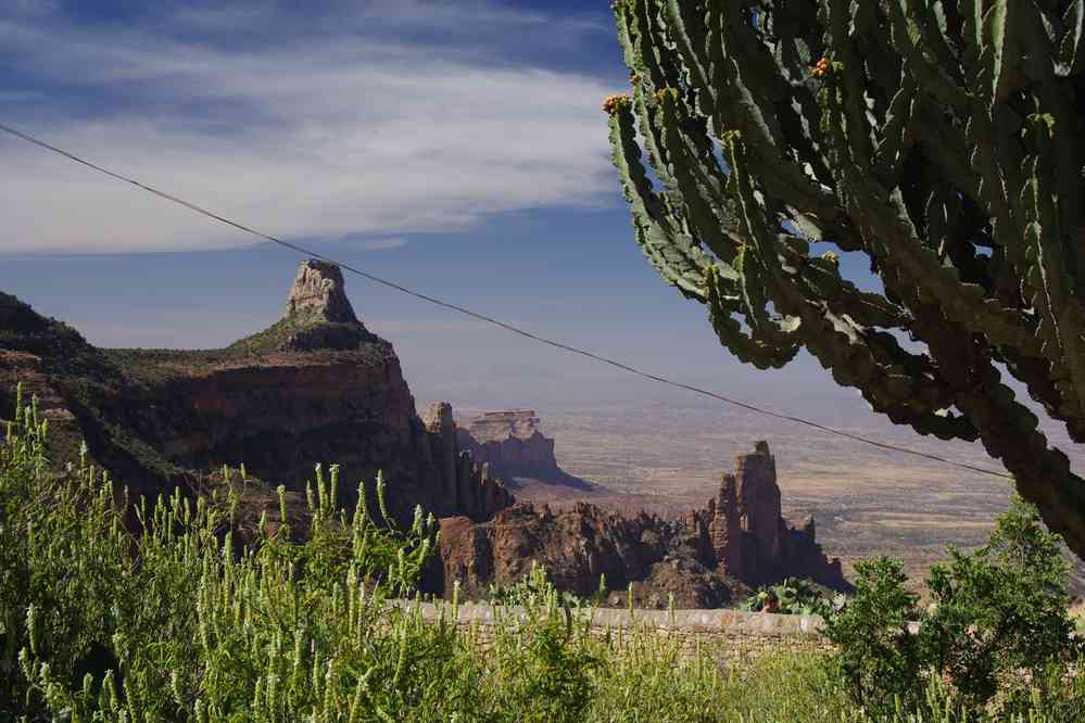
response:
[[[626,85],[606,2],[0,0],[3,123],[634,366],[778,408],[854,404],[809,357],[737,364],[648,267],[600,111]],[[91,342],[220,346],[281,314],[292,252],[8,137],[0,167],[0,290]],[[679,394],[358,278],[348,291],[421,405]]]

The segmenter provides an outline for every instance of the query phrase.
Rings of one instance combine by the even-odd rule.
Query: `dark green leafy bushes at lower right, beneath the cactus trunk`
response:
[[[1085,686],[1068,681],[1082,651],[1058,543],[1036,509],[1015,499],[987,545],[951,549],[949,563],[932,568],[924,611],[900,562],[858,563],[855,596],[823,627],[849,695],[874,711],[913,708],[936,680],[944,705],[961,715],[1009,716],[1030,706],[1085,715]]]

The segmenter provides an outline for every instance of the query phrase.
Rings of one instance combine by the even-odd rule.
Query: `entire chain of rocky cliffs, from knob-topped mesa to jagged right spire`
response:
[[[0,408],[13,407],[17,383],[50,421],[54,461],[77,460],[85,442],[89,460],[136,495],[207,492],[226,483],[224,466],[243,462],[242,533],[265,509],[282,522],[280,484],[289,521],[304,529],[318,464],[337,466],[348,508],[381,472],[390,521],[406,523],[416,506],[440,519],[441,559],[426,580],[436,594],[458,580],[464,594],[482,595],[532,561],[565,589],[588,595],[604,576],[620,591],[616,604],[631,585],[647,607],[728,605],[788,575],[847,586],[812,520],[783,519],[764,442],[735,458],[705,507],[676,519],[526,500],[540,487],[567,499],[600,489],[559,467],[534,411],[482,414],[462,427],[447,403],[418,415],[391,344],[358,319],[340,269],[318,261],[300,265],[278,321],[218,350],[98,348],[0,295]]]

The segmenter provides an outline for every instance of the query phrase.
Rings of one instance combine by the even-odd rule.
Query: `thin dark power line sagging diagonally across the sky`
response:
[[[495,319],[493,317],[487,316],[484,314],[479,314],[477,312],[472,312],[469,308],[465,308],[463,306],[458,306],[456,304],[452,304],[450,302],[442,301],[440,299],[436,299],[433,296],[429,296],[427,294],[414,291],[414,290],[408,289],[406,287],[400,286],[399,283],[395,283],[394,281],[389,281],[389,280],[382,279],[382,278],[380,278],[378,276],[374,276],[373,274],[368,274],[366,271],[356,269],[356,268],[354,268],[354,267],[352,267],[352,266],[350,266],[348,264],[343,264],[342,262],[337,262],[333,258],[328,258],[327,256],[318,254],[318,253],[316,253],[314,251],[310,251],[308,249],[305,249],[303,246],[299,246],[298,244],[290,243],[289,241],[283,241],[282,239],[278,239],[278,238],[276,238],[274,236],[268,236],[267,233],[264,233],[262,231],[257,231],[254,228],[251,228],[251,227],[245,226],[243,224],[239,224],[238,221],[235,221],[235,220],[230,220],[229,218],[226,218],[224,216],[219,216],[218,214],[213,213],[211,211],[207,211],[206,208],[203,208],[201,206],[198,206],[194,203],[190,203],[188,201],[185,201],[184,199],[179,199],[179,198],[177,198],[175,195],[171,195],[169,193],[166,193],[165,191],[160,191],[159,189],[156,189],[154,187],[148,186],[146,183],[141,183],[138,180],[135,180],[133,178],[128,178],[127,176],[123,176],[123,175],[121,175],[118,173],[115,173],[113,170],[110,170],[108,168],[103,168],[102,166],[99,166],[99,165],[97,165],[94,163],[91,163],[90,161],[87,161],[85,158],[80,158],[79,156],[75,155],[74,153],[68,153],[67,151],[64,151],[64,150],[62,150],[60,148],[56,148],[55,145],[47,143],[46,141],[40,140],[40,139],[38,139],[38,138],[36,138],[36,137],[34,137],[34,136],[31,136],[29,134],[23,132],[21,130],[16,130],[15,128],[12,128],[10,126],[0,124],[0,130],[4,131],[7,134],[10,134],[12,136],[15,136],[16,138],[21,138],[23,140],[25,140],[26,142],[33,143],[34,145],[37,145],[39,148],[43,148],[47,151],[52,151],[53,153],[58,153],[60,155],[63,155],[65,158],[68,158],[70,161],[74,161],[75,163],[78,163],[78,164],[81,164],[84,166],[87,166],[88,168],[92,168],[92,169],[94,169],[94,170],[97,170],[97,172],[99,172],[101,174],[105,174],[106,176],[110,176],[111,178],[115,178],[115,179],[124,181],[126,183],[131,183],[133,186],[136,186],[137,188],[142,189],[142,190],[147,191],[148,193],[153,193],[154,195],[157,195],[157,196],[160,196],[162,199],[165,199],[166,201],[171,201],[171,202],[176,203],[178,205],[185,206],[189,211],[193,211],[193,212],[195,212],[195,213],[198,213],[200,215],[206,216],[209,218],[213,218],[214,220],[217,220],[219,223],[226,224],[228,226],[232,226],[234,228],[239,229],[241,231],[244,231],[245,233],[252,233],[253,236],[260,237],[262,239],[266,239],[267,241],[270,241],[272,243],[277,243],[280,246],[286,246],[287,249],[291,249],[293,251],[297,251],[299,253],[305,254],[305,255],[311,256],[313,258],[318,258],[318,259],[327,262],[329,264],[333,264],[333,265],[338,266],[341,269],[345,269],[348,271],[351,271],[352,274],[356,274],[357,276],[361,276],[361,277],[363,277],[365,279],[368,279],[368,280],[370,280],[370,281],[373,281],[375,283],[379,283],[381,286],[388,287],[389,289],[394,289],[394,290],[400,291],[402,293],[405,293],[405,294],[407,294],[409,296],[414,296],[415,299],[420,299],[422,301],[429,302],[430,304],[434,304],[437,306],[441,306],[443,308],[451,309],[453,312],[457,312],[458,314],[463,314],[465,316],[469,316],[469,317],[478,319],[480,321],[485,321],[487,324],[493,325],[495,327],[500,327],[500,328],[505,329],[507,331],[512,331],[515,334],[519,334],[520,337],[525,337],[527,339],[531,339],[531,340],[540,342],[542,344],[546,344],[547,346],[553,346],[555,348],[559,348],[559,350],[569,352],[571,354],[578,354],[580,356],[588,357],[589,359],[593,359],[595,362],[600,362],[602,364],[606,364],[606,365],[609,365],[611,367],[616,367],[618,369],[621,369],[623,371],[628,371],[630,373],[636,375],[638,377],[642,377],[644,379],[651,379],[652,381],[656,381],[656,382],[659,382],[661,384],[667,384],[669,386],[674,386],[674,388],[678,388],[678,389],[684,389],[684,390],[686,390],[689,392],[693,392],[695,394],[701,394],[703,396],[708,396],[708,397],[711,397],[711,398],[717,399],[719,402],[724,402],[727,404],[740,407],[742,409],[746,409],[748,411],[753,411],[755,414],[764,415],[766,417],[772,417],[773,419],[781,419],[783,421],[790,421],[790,422],[795,422],[795,423],[798,423],[798,424],[805,424],[807,427],[811,427],[813,429],[820,430],[822,432],[827,432],[829,434],[835,434],[837,436],[843,436],[844,439],[853,440],[855,442],[862,442],[865,444],[869,444],[869,445],[879,447],[881,449],[887,449],[890,452],[898,452],[898,453],[901,453],[901,454],[912,455],[912,456],[916,456],[916,457],[922,457],[924,459],[930,459],[930,460],[933,460],[933,461],[936,461],[936,462],[941,462],[943,465],[949,465],[951,467],[958,467],[960,469],[967,469],[967,470],[971,470],[973,472],[981,472],[983,474],[991,474],[993,477],[1000,477],[1000,478],[1008,479],[1008,480],[1012,480],[1013,479],[1012,475],[1006,474],[1004,472],[999,472],[997,470],[987,469],[985,467],[977,467],[975,465],[969,465],[967,462],[959,462],[959,461],[955,461],[952,459],[946,459],[945,457],[939,457],[937,455],[928,454],[925,452],[919,452],[918,449],[909,449],[907,447],[897,446],[895,444],[887,444],[885,442],[879,442],[876,440],[871,440],[871,439],[862,436],[860,434],[851,434],[849,432],[844,432],[844,431],[838,430],[838,429],[833,429],[832,427],[827,427],[824,424],[819,424],[818,422],[810,421],[808,419],[803,419],[802,417],[793,417],[791,415],[782,415],[782,414],[779,414],[779,413],[775,413],[775,411],[770,411],[768,409],[762,409],[762,408],[754,406],[752,404],[746,404],[745,402],[739,402],[736,399],[732,399],[732,398],[729,398],[727,396],[723,396],[722,394],[717,394],[716,392],[711,392],[711,391],[708,391],[708,390],[705,390],[705,389],[701,389],[699,386],[693,386],[691,384],[685,384],[683,382],[678,382],[678,381],[673,381],[671,379],[667,379],[666,377],[659,377],[657,375],[653,375],[653,373],[649,373],[647,371],[643,371],[643,370],[638,369],[635,367],[631,367],[631,366],[629,366],[627,364],[623,364],[621,362],[618,362],[616,359],[610,359],[610,358],[607,358],[605,356],[600,356],[598,354],[594,354],[592,352],[588,352],[585,350],[578,348],[576,346],[570,346],[569,344],[563,344],[562,342],[554,341],[553,339],[547,339],[545,337],[540,337],[539,334],[532,333],[530,331],[526,331],[523,329],[520,329],[519,327],[513,326],[510,324],[506,324],[505,321],[501,321],[499,319]]]

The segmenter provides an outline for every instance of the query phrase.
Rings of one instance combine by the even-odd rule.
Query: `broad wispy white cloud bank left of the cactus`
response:
[[[425,14],[415,2],[400,8],[396,23]],[[542,21],[506,10],[487,22]],[[487,63],[469,43],[434,50],[344,34],[241,51],[147,28],[106,35],[16,18],[0,20],[0,45],[45,86],[63,79],[123,102],[41,125],[49,105],[28,99],[16,116],[27,130],[267,233],[441,231],[505,211],[620,201],[598,110],[610,89],[588,75]],[[0,253],[253,241],[10,137],[0,137]]]

